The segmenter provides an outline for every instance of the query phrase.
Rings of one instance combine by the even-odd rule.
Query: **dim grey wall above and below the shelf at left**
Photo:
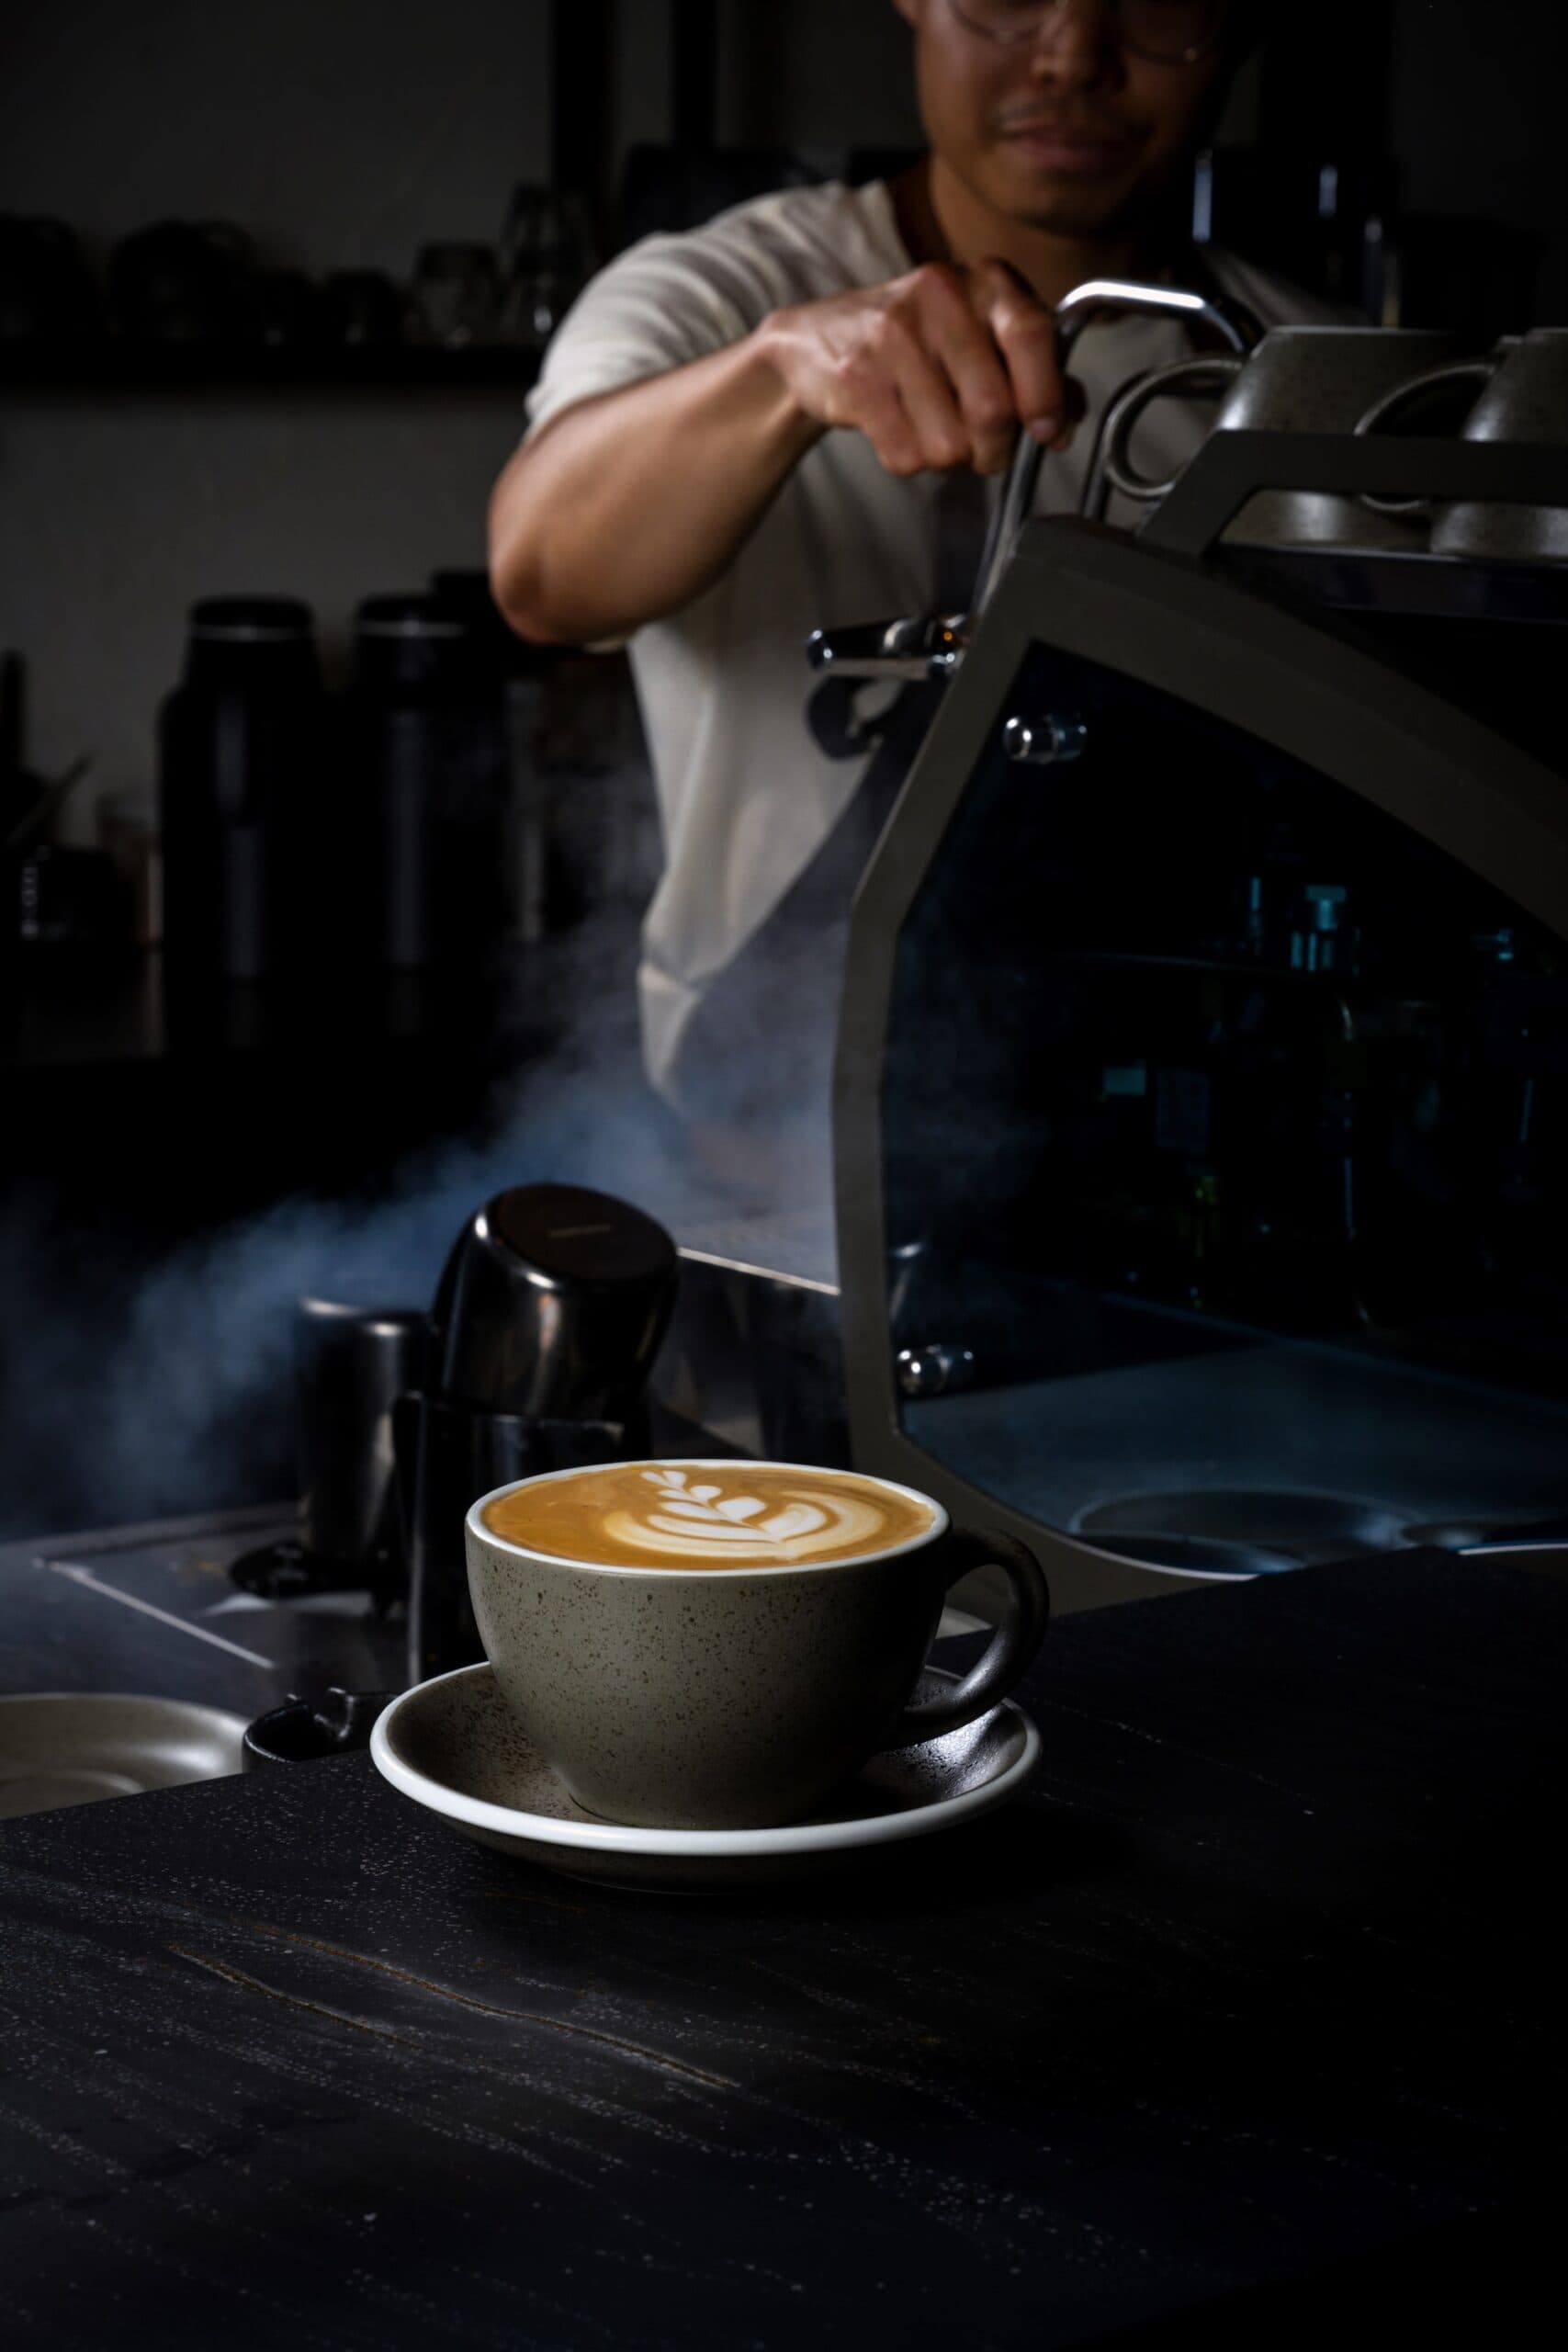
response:
[[[61,0],[7,9],[0,212],[52,214],[101,254],[165,219],[221,219],[270,261],[407,278],[435,238],[494,242],[550,172],[543,0]],[[357,597],[482,562],[484,496],[522,390],[94,383],[0,412],[0,644],[24,649],[45,771],[153,788],[153,720],[197,595],[315,604],[324,649]]]

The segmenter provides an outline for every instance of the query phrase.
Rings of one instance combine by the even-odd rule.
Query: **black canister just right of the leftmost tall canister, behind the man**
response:
[[[505,731],[494,663],[456,604],[360,604],[348,736],[374,962],[487,964],[508,910]]]

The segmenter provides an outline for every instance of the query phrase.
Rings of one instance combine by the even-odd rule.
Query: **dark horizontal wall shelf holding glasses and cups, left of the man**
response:
[[[522,346],[435,350],[416,343],[383,350],[247,350],[244,346],[115,346],[82,350],[5,350],[0,400],[35,393],[527,393],[538,353]]]

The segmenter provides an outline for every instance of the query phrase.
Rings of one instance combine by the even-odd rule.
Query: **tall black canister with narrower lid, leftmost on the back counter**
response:
[[[172,1009],[303,981],[329,891],[327,696],[310,607],[207,597],[162,706],[165,974]]]

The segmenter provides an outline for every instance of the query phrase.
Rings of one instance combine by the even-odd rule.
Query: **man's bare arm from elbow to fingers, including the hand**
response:
[[[625,637],[729,569],[832,426],[914,475],[1001,473],[1018,423],[1060,440],[1067,397],[1051,313],[1004,261],[776,310],[524,442],[491,496],[496,602],[541,644]]]

